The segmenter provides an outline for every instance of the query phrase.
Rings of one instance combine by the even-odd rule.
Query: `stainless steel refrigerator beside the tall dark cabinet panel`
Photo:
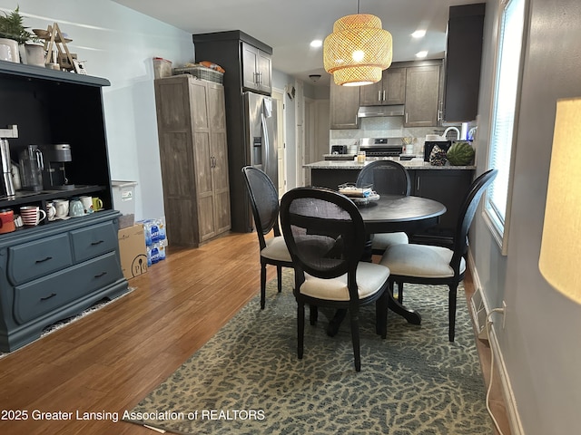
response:
[[[262,169],[278,189],[276,102],[253,92],[243,93],[246,165]],[[246,193],[246,192],[245,192]],[[248,228],[254,227],[248,194],[244,195]]]

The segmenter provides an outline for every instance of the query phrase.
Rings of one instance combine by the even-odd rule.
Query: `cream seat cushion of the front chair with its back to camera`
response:
[[[373,263],[360,262],[357,266],[359,298],[379,292],[389,278],[389,268]],[[321,279],[305,274],[305,282],[300,285],[300,293],[330,301],[349,301],[347,274],[333,279]]]

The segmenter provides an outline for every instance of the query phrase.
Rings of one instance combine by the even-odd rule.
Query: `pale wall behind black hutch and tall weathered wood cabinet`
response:
[[[192,62],[192,35],[110,0],[0,0],[3,11],[16,5],[27,27],[46,29],[58,23],[73,39],[70,51],[87,61],[87,72],[111,82],[103,88],[103,100],[112,179],[139,183],[135,218],[161,217],[152,58]],[[66,102],[59,104],[61,109],[75,110]]]

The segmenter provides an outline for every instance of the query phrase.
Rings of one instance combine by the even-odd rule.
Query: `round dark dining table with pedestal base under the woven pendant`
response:
[[[438,218],[446,213],[446,206],[434,199],[414,196],[381,195],[377,200],[365,201],[355,199],[365,228],[369,234],[366,253],[363,260],[371,261],[371,240],[374,234],[404,231],[408,234],[432,227]],[[421,324],[418,312],[400,304],[389,293],[389,309],[404,317],[410,324]],[[340,323],[345,317],[345,310],[337,310],[327,329],[329,335],[339,331]]]

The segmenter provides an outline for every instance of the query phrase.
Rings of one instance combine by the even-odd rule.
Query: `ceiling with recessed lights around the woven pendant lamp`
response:
[[[317,85],[328,85],[330,75],[323,69],[322,47],[310,48],[310,41],[324,40],[335,20],[358,12],[358,0],[113,1],[192,34],[241,30],[272,47],[274,69],[305,82],[321,74]],[[393,62],[415,60],[421,50],[438,59],[446,49],[448,7],[471,3],[477,1],[359,0],[359,12],[378,15],[392,34]],[[419,29],[427,33],[416,40],[411,33]]]

